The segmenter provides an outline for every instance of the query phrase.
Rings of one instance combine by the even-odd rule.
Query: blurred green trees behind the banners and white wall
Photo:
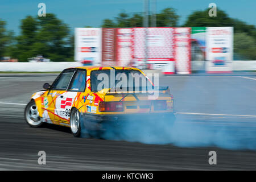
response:
[[[156,27],[234,27],[234,59],[256,60],[256,29],[254,25],[230,18],[218,10],[216,17],[208,15],[209,9],[194,11],[184,24],[180,16],[168,7],[156,14]],[[149,16],[149,26],[151,16]],[[85,26],[90,27],[90,26]],[[101,27],[143,27],[143,13],[127,14],[125,11],[113,19],[102,20]],[[68,24],[55,14],[26,16],[20,22],[20,35],[6,30],[0,19],[0,57],[10,56],[19,61],[43,55],[52,61],[73,61],[74,35]]]

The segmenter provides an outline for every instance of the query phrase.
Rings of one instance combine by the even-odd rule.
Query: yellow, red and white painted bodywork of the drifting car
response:
[[[94,81],[91,79],[92,73],[97,73],[94,71],[109,71],[112,69],[119,72],[132,70],[141,73],[148,79],[140,69],[130,67],[76,67],[65,69],[60,73],[52,85],[54,85],[56,81],[58,82],[58,79],[61,81],[61,77],[65,74],[70,77],[69,81],[67,81],[68,79],[63,81],[63,83],[68,82],[67,88],[61,89],[59,87],[55,88],[54,86],[52,88],[52,86],[50,86],[49,89],[36,92],[31,97],[31,101],[35,102],[41,121],[71,127],[70,117],[73,108],[76,108],[85,118],[96,118],[96,120],[101,120],[103,116],[108,120],[110,119],[108,116],[115,116],[116,118],[127,114],[143,115],[149,113],[174,113],[174,99],[172,94],[170,94],[170,89],[168,87],[159,89],[157,91],[158,98],[151,99],[148,99],[148,93],[141,91],[127,90],[127,92],[121,92],[111,90],[109,88],[101,89],[98,92],[92,90],[92,84]],[[76,76],[79,74],[80,77]],[[80,81],[78,79],[84,81]],[[78,84],[79,81],[80,83],[82,82],[82,84],[85,84],[84,87],[82,87],[84,90],[79,90],[73,87],[72,84],[74,84],[75,81]],[[67,85],[67,83],[65,84]],[[160,101],[158,104],[164,104],[164,108],[162,110],[155,108],[156,106],[154,103],[156,101]],[[111,103],[108,104],[108,102]],[[117,103],[119,106],[115,105]],[[108,110],[112,105],[117,108],[122,107],[122,109],[119,109],[118,111],[112,111],[111,109]]]

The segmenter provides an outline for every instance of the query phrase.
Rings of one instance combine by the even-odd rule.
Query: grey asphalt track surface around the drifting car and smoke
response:
[[[55,77],[0,77],[1,170],[227,170],[256,169],[255,148],[144,144],[126,140],[75,138],[67,127],[28,127],[23,110],[33,92]],[[177,122],[193,122],[215,129],[223,126],[252,135],[256,143],[256,76],[167,76],[175,97]],[[185,119],[184,119],[185,118]],[[182,132],[182,131],[181,131]],[[185,132],[185,131],[184,131]],[[245,135],[245,133],[242,133]],[[182,133],[181,133],[182,134]],[[237,135],[236,135],[237,134]],[[254,143],[255,142],[255,143]],[[38,164],[45,151],[47,164]],[[209,151],[217,164],[209,165]]]

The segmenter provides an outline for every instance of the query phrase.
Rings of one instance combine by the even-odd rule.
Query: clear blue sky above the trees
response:
[[[7,29],[19,34],[20,20],[27,15],[38,14],[38,3],[46,3],[47,13],[54,13],[73,30],[75,27],[100,27],[105,18],[114,18],[125,10],[126,13],[143,11],[144,0],[1,0],[0,18],[7,22]],[[205,10],[209,3],[216,3],[217,10],[226,11],[232,18],[238,18],[256,26],[255,0],[157,0],[157,11],[173,7],[180,15],[179,24],[196,10]]]

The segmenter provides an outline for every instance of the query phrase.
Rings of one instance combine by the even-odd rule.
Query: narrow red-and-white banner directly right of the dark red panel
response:
[[[117,28],[117,61],[121,67],[131,66],[132,28]]]

